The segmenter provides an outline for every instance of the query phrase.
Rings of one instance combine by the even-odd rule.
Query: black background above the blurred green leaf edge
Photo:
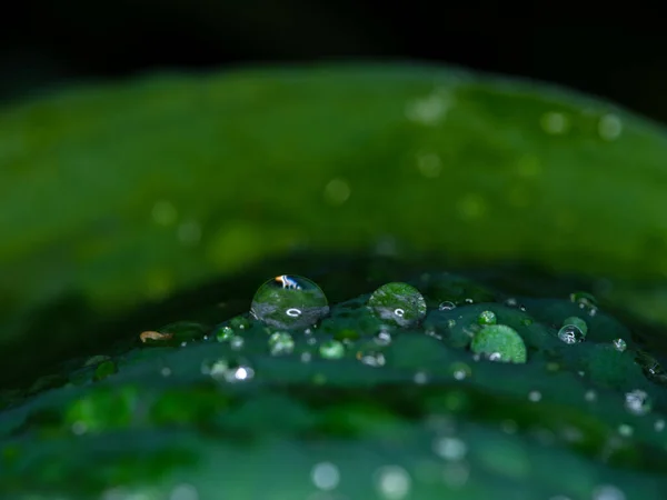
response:
[[[666,122],[660,16],[603,6],[586,23],[585,6],[558,2],[29,0],[0,14],[0,100],[152,70],[410,59],[561,83]]]

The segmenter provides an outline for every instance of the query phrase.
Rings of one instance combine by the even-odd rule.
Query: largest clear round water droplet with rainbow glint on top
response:
[[[259,287],[250,313],[270,327],[297,329],[315,324],[329,313],[329,306],[312,281],[283,274]]]

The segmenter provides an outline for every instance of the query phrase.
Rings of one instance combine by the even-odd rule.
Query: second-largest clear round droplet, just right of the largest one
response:
[[[372,313],[399,327],[415,327],[426,317],[426,301],[419,290],[407,283],[387,283],[368,300]]]

